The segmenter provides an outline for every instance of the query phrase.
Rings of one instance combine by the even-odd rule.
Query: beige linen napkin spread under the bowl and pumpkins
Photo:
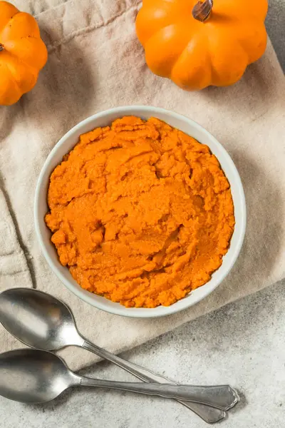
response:
[[[284,277],[285,79],[270,42],[236,85],[187,93],[147,69],[135,36],[137,0],[14,3],[36,15],[49,57],[36,88],[0,108],[0,289],[37,287],[60,297],[86,337],[120,352]],[[207,128],[234,159],[247,198],[247,234],[227,280],[195,307],[156,320],[81,302],[48,268],[33,228],[36,179],[51,148],[83,118],[124,104],[168,108]],[[0,351],[19,346],[0,328]],[[77,348],[62,355],[73,369],[95,361]]]

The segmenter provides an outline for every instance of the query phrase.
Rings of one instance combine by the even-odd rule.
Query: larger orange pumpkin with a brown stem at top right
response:
[[[266,0],[142,0],[136,29],[150,70],[181,88],[228,86],[266,48]]]

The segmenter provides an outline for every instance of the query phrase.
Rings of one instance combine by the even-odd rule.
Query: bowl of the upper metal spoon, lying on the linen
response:
[[[0,320],[25,345],[46,351],[83,345],[68,307],[55,297],[29,288],[1,293]]]

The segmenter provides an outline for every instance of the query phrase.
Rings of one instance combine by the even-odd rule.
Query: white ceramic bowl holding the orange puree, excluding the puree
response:
[[[48,212],[48,205],[46,202],[46,195],[48,191],[49,177],[53,169],[61,163],[63,156],[71,151],[73,146],[78,142],[78,138],[82,133],[86,133],[93,128],[98,126],[107,126],[113,122],[116,118],[122,116],[139,116],[142,119],[150,118],[155,116],[170,124],[175,128],[189,134],[194,137],[200,143],[207,144],[211,149],[212,153],[217,156],[219,163],[222,165],[225,175],[231,185],[232,198],[234,200],[234,215],[236,225],[232,240],[229,246],[227,254],[224,256],[223,263],[219,269],[214,272],[212,278],[207,284],[197,288],[190,292],[189,295],[184,297],[182,300],[174,303],[169,307],[159,306],[155,308],[142,308],[142,307],[124,307],[119,303],[111,302],[105,297],[100,297],[91,292],[83,290],[78,283],[73,280],[67,267],[63,267],[58,261],[58,255],[56,249],[51,243],[51,232],[46,227],[44,222],[44,216]],[[46,162],[43,165],[41,173],[38,178],[36,186],[36,198],[34,207],[34,217],[36,225],[36,235],[41,245],[41,250],[45,256],[48,264],[50,265],[53,272],[56,273],[58,278],[63,282],[69,290],[75,295],[80,297],[90,305],[98,307],[101,310],[111,312],[116,315],[123,315],[125,317],[161,317],[164,315],[174,314],[180,310],[184,310],[187,307],[195,305],[195,303],[204,299],[209,295],[227,276],[229,271],[232,269],[234,262],[237,260],[239,251],[242,248],[242,242],[244,240],[244,232],[246,227],[246,205],[244,198],[244,190],[242,188],[242,181],[237,172],[232,159],[229,157],[224,147],[214,138],[209,132],[207,132],[202,126],[199,126],[196,122],[191,119],[181,116],[177,113],[164,110],[157,107],[148,106],[126,106],[111,108],[110,110],[97,113],[94,116],[90,116],[85,121],[78,123],[74,126],[71,131],[68,131],[63,138],[56,144],[51,153],[49,154]]]

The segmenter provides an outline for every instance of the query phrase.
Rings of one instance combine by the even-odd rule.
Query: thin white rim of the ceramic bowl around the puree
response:
[[[238,236],[238,240],[237,240],[237,243],[235,245],[235,248],[234,248],[234,253],[232,254],[232,258],[231,258],[230,262],[228,263],[227,269],[223,272],[222,275],[220,275],[219,280],[217,280],[216,284],[214,286],[212,286],[212,290],[209,290],[207,292],[207,294],[201,295],[200,297],[196,297],[194,302],[192,302],[192,301],[187,302],[187,304],[182,305],[182,307],[176,307],[175,304],[170,305],[170,306],[165,306],[165,307],[163,307],[163,309],[164,309],[163,311],[160,310],[160,312],[157,312],[157,313],[153,313],[153,310],[157,309],[157,307],[155,307],[155,308],[133,308],[133,307],[128,308],[128,307],[125,307],[123,305],[120,305],[119,302],[116,303],[116,305],[118,305],[118,306],[116,306],[115,308],[114,307],[109,308],[109,307],[106,307],[106,305],[105,305],[105,300],[107,300],[107,299],[104,298],[104,300],[103,300],[104,303],[102,303],[100,301],[95,301],[93,299],[93,297],[92,297],[93,293],[90,292],[90,295],[84,294],[84,292],[86,292],[86,290],[81,289],[80,285],[78,285],[78,287],[74,286],[61,273],[61,271],[58,269],[58,266],[55,263],[53,263],[53,260],[51,259],[50,255],[48,254],[48,250],[46,248],[46,243],[44,242],[43,236],[41,234],[41,228],[40,228],[40,224],[39,224],[39,222],[40,222],[39,204],[40,204],[40,197],[41,197],[41,188],[44,185],[43,178],[44,178],[44,175],[46,173],[46,169],[48,169],[49,163],[51,163],[51,161],[53,160],[53,156],[56,155],[58,148],[60,148],[63,145],[63,143],[65,143],[65,141],[69,137],[73,136],[73,133],[78,131],[80,128],[83,128],[84,126],[88,125],[89,123],[93,123],[93,121],[95,121],[95,120],[98,120],[100,118],[104,118],[104,116],[106,116],[106,115],[110,115],[113,113],[114,114],[120,113],[120,111],[124,112],[124,113],[122,113],[124,116],[126,116],[125,115],[126,112],[128,112],[130,115],[135,115],[135,113],[134,113],[135,109],[145,111],[146,113],[151,113],[151,114],[153,113],[153,116],[155,116],[155,113],[162,113],[165,116],[176,118],[177,120],[186,121],[190,124],[190,126],[197,128],[197,130],[199,130],[200,132],[207,135],[214,142],[214,144],[216,144],[219,147],[219,150],[223,152],[223,156],[226,159],[227,163],[229,164],[229,167],[232,169],[232,173],[234,174],[235,183],[237,184],[237,187],[239,189],[239,203],[240,203],[240,208],[241,208],[240,209],[240,219],[239,219],[240,220],[239,221],[239,223],[240,223],[239,236]],[[167,122],[167,119],[165,121]],[[71,150],[72,150],[72,148],[71,148]],[[218,161],[219,161],[219,158],[218,158]],[[244,242],[244,235],[245,235],[245,230],[246,230],[246,225],[247,225],[247,208],[246,208],[246,200],[245,200],[245,195],[244,195],[244,188],[243,188],[242,180],[239,176],[239,172],[237,170],[237,167],[234,164],[234,161],[232,161],[232,158],[229,156],[229,153],[224,148],[224,146],[222,146],[222,144],[219,143],[219,141],[217,141],[217,139],[211,133],[209,133],[209,131],[207,131],[203,126],[199,125],[199,123],[193,121],[192,119],[190,119],[187,116],[182,115],[180,113],[175,113],[175,112],[167,110],[165,108],[160,108],[160,107],[155,107],[155,106],[132,105],[132,106],[118,106],[115,108],[108,108],[107,110],[100,111],[98,113],[93,114],[92,116],[88,116],[88,118],[85,118],[85,119],[83,119],[83,121],[77,123],[75,126],[73,126],[73,128],[71,128],[66,134],[64,134],[60,138],[60,140],[55,144],[55,146],[53,146],[51,152],[48,154],[48,157],[46,158],[46,161],[43,163],[43,166],[41,168],[41,172],[38,175],[38,180],[36,183],[36,192],[35,192],[35,197],[34,197],[33,217],[34,217],[34,225],[35,225],[35,230],[36,230],[36,237],[38,239],[38,243],[40,244],[41,252],[43,253],[44,258],[48,262],[49,267],[51,267],[51,270],[53,271],[53,273],[56,274],[58,279],[61,280],[63,285],[65,285],[68,288],[68,290],[73,292],[73,294],[75,294],[77,297],[79,297],[84,302],[87,302],[88,304],[92,305],[93,307],[97,307],[98,309],[103,310],[105,312],[109,312],[113,315],[120,315],[123,317],[131,317],[131,318],[155,318],[155,317],[164,317],[167,315],[172,315],[176,312],[180,312],[182,310],[185,310],[188,307],[191,307],[193,305],[197,305],[198,302],[200,302],[205,297],[207,297],[209,294],[211,294],[221,284],[221,282],[224,280],[224,278],[227,277],[230,270],[232,270],[232,267],[234,266],[234,263],[236,262],[236,260],[239,256],[239,253],[242,249],[242,244]],[[59,264],[59,262],[58,262],[58,264]],[[216,272],[219,271],[219,268],[217,269]],[[66,267],[66,269],[68,269],[68,268]],[[204,285],[206,285],[206,284],[204,284]],[[204,285],[202,287],[204,287]],[[195,290],[193,290],[193,291],[195,291]],[[189,293],[189,295],[190,294],[191,294],[191,292]],[[182,300],[187,299],[187,296],[185,296],[184,299],[182,299]],[[180,300],[180,302],[182,300]],[[108,300],[108,302],[109,302],[109,300]],[[161,306],[158,306],[158,307],[161,308]],[[138,315],[135,310],[140,310],[140,309],[145,309],[145,312],[142,312],[142,313],[140,313],[140,315]],[[147,314],[147,310],[152,310],[151,311],[152,313]]]

